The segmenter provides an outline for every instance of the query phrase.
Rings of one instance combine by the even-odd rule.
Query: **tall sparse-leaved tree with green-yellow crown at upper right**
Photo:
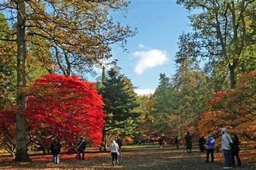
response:
[[[193,11],[193,33],[183,34],[193,44],[190,60],[207,60],[207,72],[222,68],[222,77],[230,76],[230,88],[237,86],[237,75],[244,70],[244,62],[253,60],[255,48],[255,3],[253,1],[181,1],[186,9]],[[191,46],[192,47],[192,46]],[[248,55],[249,54],[249,55]],[[255,67],[255,65],[253,66]],[[228,72],[227,72],[228,70]]]

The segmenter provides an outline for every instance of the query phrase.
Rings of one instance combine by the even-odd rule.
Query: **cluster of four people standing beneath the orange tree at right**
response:
[[[225,167],[224,169],[230,169],[235,165],[235,158],[237,158],[238,166],[241,166],[241,159],[239,157],[239,139],[237,134],[227,133],[226,128],[222,128],[221,132],[223,133],[221,139],[221,147],[223,149],[224,158],[225,158]],[[200,137],[199,140],[199,150],[205,152],[205,144],[206,144],[206,160],[205,162],[209,162],[209,157],[211,153],[211,163],[214,162],[214,149],[215,149],[215,139],[212,134],[208,134],[207,139],[204,137]]]

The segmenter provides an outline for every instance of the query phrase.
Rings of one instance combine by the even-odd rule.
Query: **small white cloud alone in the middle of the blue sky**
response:
[[[148,68],[163,65],[168,60],[166,51],[161,51],[159,49],[137,51],[134,52],[133,55],[139,58],[139,61],[134,68],[134,72],[139,75],[143,74]]]

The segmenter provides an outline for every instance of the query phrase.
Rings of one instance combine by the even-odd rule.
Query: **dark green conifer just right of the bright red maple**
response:
[[[131,81],[120,75],[117,66],[107,72],[102,89],[104,112],[108,118],[105,124],[106,135],[120,134],[124,137],[135,133],[139,117],[136,108],[139,104],[133,89]]]

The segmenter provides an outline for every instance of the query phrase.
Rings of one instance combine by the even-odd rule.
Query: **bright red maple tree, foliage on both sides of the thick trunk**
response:
[[[48,74],[37,79],[26,93],[24,114],[28,119],[27,138],[32,145],[47,148],[53,137],[64,146],[74,145],[81,136],[95,146],[101,142],[104,103],[95,83],[77,76]],[[6,148],[15,148],[15,108],[0,109],[0,118],[1,142]]]

